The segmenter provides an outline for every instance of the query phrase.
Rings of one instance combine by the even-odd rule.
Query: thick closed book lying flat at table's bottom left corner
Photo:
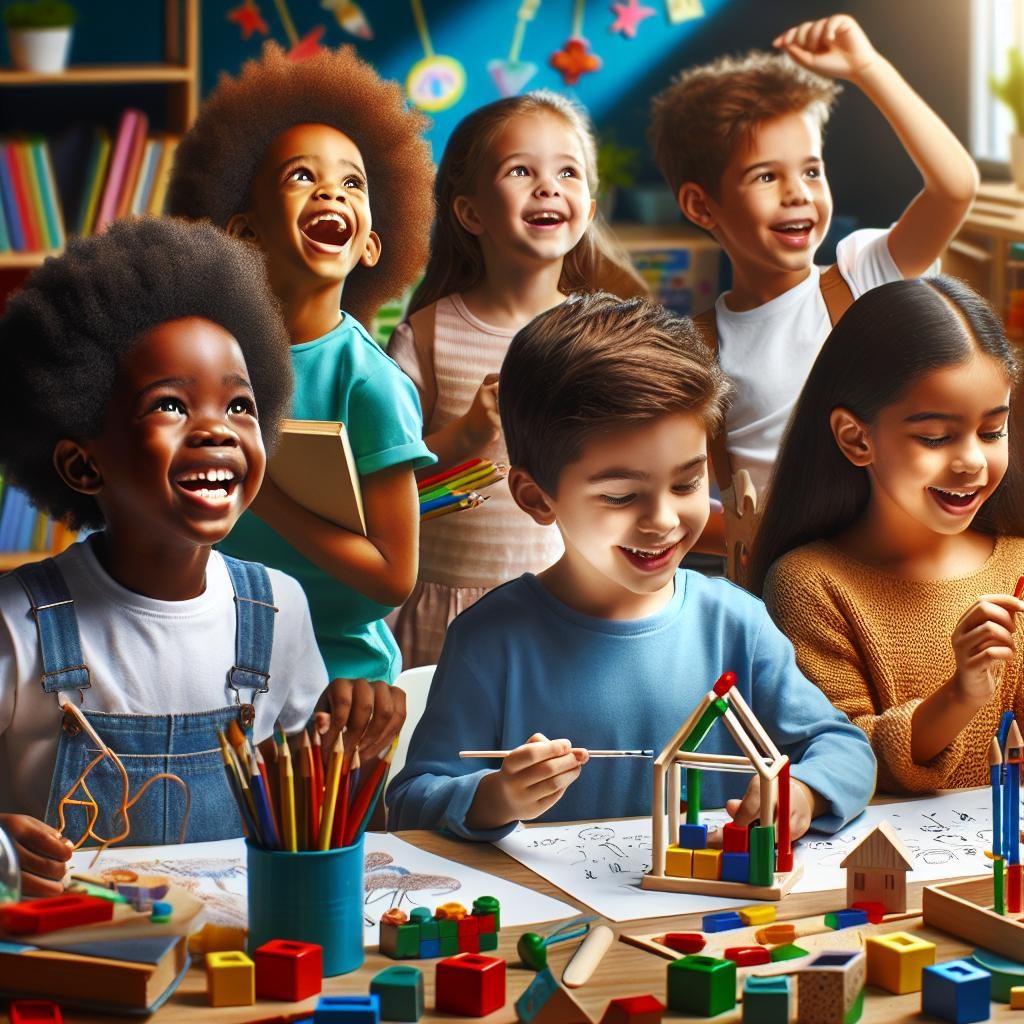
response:
[[[0,942],[0,993],[104,1014],[151,1014],[188,968],[181,935],[102,939],[61,949]]]

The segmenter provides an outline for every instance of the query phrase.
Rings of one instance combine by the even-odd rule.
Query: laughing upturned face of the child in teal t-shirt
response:
[[[329,125],[293,125],[270,143],[251,207],[227,229],[259,244],[279,295],[310,280],[343,284],[354,267],[380,257],[362,157]]]

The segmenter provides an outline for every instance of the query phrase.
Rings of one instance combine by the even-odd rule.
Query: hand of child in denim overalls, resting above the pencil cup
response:
[[[338,733],[347,730],[348,754],[358,744],[359,758],[364,761],[382,754],[390,745],[406,721],[406,691],[389,686],[382,680],[371,683],[366,679],[332,679],[321,698],[321,705],[330,714],[316,715],[316,731],[323,736],[324,756],[327,757]]]

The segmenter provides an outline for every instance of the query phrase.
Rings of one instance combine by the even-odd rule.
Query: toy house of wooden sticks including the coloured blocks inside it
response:
[[[803,873],[803,868],[794,867],[790,840],[790,759],[772,742],[735,687],[734,673],[721,676],[654,759],[651,869],[641,883],[644,889],[779,900]],[[718,724],[729,730],[741,756],[699,752]],[[684,768],[685,823],[680,822]],[[758,775],[761,820],[769,823],[751,828],[726,826],[723,849],[708,849],[708,827],[699,823],[701,771]]]

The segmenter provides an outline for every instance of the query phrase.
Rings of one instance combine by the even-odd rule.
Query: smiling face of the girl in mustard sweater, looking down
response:
[[[862,427],[851,461],[867,468],[868,515],[887,536],[914,543],[971,525],[1007,472],[1009,404],[1006,370],[976,353],[922,377]]]

